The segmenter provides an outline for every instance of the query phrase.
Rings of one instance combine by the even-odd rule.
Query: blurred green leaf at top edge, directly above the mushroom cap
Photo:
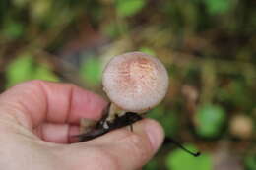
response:
[[[117,14],[120,17],[129,17],[138,13],[146,5],[146,0],[117,0]]]

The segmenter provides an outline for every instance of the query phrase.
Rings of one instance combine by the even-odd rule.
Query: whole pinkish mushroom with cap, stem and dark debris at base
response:
[[[165,96],[168,75],[157,58],[129,52],[110,60],[103,71],[102,84],[111,104],[99,122],[81,119],[80,141],[92,140],[141,120],[141,115]]]

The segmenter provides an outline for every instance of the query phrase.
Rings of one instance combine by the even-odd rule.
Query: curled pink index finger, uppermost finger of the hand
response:
[[[96,119],[105,105],[101,97],[78,86],[45,81],[16,85],[0,96],[2,110],[30,128],[42,122],[78,124],[80,118]]]

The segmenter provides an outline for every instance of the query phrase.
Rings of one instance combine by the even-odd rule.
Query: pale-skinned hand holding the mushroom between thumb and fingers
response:
[[[32,81],[0,95],[0,169],[137,170],[163,140],[151,119],[76,142],[81,118],[99,119],[106,102],[76,85]]]

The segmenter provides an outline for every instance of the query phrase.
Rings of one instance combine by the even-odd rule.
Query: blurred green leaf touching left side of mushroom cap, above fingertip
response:
[[[90,85],[99,85],[101,81],[101,62],[96,57],[88,58],[81,66],[80,74]]]

